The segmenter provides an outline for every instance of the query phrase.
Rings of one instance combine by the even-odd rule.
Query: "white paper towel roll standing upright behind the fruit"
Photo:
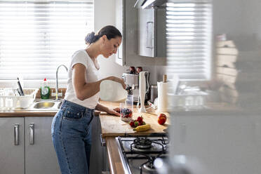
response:
[[[168,112],[168,82],[158,82],[158,112]]]

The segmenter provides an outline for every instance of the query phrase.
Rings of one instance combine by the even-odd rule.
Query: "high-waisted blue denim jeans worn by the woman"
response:
[[[64,100],[52,123],[52,140],[62,174],[88,174],[94,109]]]

